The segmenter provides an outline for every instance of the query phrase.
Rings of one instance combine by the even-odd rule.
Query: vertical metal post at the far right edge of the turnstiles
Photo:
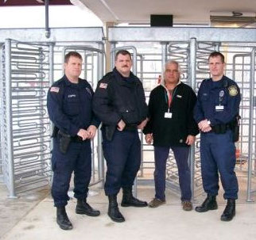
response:
[[[250,54],[250,112],[249,112],[249,149],[248,149],[248,181],[247,181],[247,201],[251,202],[251,174],[252,174],[252,150],[253,150],[253,130],[254,130],[254,70],[255,70],[255,50]]]

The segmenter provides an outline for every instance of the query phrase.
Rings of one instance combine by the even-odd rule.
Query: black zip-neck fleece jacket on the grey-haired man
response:
[[[182,82],[173,90],[170,108],[164,86],[157,86],[149,96],[149,122],[144,134],[153,133],[153,145],[161,147],[188,147],[188,135],[197,135],[199,130],[193,119],[196,94]],[[172,118],[165,118],[165,112],[172,112]]]

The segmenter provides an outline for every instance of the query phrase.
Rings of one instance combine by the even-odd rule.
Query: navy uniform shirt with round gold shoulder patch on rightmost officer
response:
[[[210,120],[211,126],[228,124],[239,114],[239,86],[226,76],[217,82],[205,79],[198,91],[194,117],[197,123]]]

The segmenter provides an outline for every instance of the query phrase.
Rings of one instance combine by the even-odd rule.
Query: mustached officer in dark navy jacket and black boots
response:
[[[142,82],[130,71],[131,66],[130,52],[118,51],[114,70],[99,81],[93,98],[93,111],[103,122],[108,215],[118,223],[125,221],[117,203],[117,194],[121,188],[122,207],[147,206],[146,202],[132,195],[134,179],[141,164],[138,129],[145,127],[147,105]]]

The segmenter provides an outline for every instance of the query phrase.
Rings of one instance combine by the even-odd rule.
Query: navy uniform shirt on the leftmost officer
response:
[[[79,78],[76,84],[64,75],[48,90],[50,120],[56,128],[72,136],[76,136],[80,128],[87,129],[90,125],[99,127],[99,120],[92,112],[92,96],[93,90],[86,80]]]

